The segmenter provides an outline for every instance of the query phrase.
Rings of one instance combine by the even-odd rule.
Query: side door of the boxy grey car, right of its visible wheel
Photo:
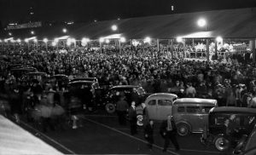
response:
[[[203,121],[201,118],[200,106],[187,106],[188,122],[191,125],[192,132],[201,132],[203,129]]]

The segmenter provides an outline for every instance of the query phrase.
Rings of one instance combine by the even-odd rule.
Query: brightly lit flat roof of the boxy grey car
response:
[[[200,99],[200,98],[182,98],[182,99],[177,99],[173,102],[173,105],[177,104],[184,104],[184,103],[203,103],[203,104],[208,104],[208,105],[217,105],[217,100],[212,100],[212,99]]]

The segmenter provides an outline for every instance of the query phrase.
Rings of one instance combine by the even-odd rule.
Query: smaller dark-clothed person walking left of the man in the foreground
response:
[[[149,120],[144,128],[144,136],[148,141],[148,148],[151,150],[154,144],[154,121]]]

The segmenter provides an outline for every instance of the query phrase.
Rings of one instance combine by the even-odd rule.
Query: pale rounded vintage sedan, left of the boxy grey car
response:
[[[177,100],[177,95],[169,93],[156,93],[149,95],[145,100],[147,119],[165,120],[172,114],[172,103]]]

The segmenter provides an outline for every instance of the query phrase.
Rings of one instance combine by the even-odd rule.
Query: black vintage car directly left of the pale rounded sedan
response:
[[[136,85],[119,85],[113,86],[108,89],[108,93],[105,95],[103,105],[108,113],[115,112],[116,102],[119,100],[120,95],[125,95],[126,101],[131,105],[131,92],[136,91],[138,102],[142,103],[148,96],[145,90]]]

